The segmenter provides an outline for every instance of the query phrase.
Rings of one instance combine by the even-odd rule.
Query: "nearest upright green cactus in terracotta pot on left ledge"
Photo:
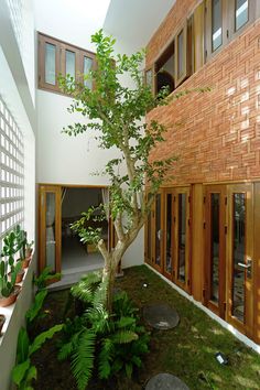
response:
[[[8,266],[11,267],[11,278],[8,275]],[[9,261],[2,260],[0,263],[0,306],[9,306],[15,302],[21,290],[20,285],[15,284],[17,275],[21,270],[21,262],[15,266]]]

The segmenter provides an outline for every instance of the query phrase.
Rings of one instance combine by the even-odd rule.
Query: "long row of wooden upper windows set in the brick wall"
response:
[[[260,0],[203,0],[145,71],[154,94],[170,93],[259,18]]]

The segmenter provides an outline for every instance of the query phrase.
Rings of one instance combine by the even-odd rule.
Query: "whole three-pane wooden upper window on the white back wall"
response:
[[[93,88],[89,71],[95,66],[95,54],[39,33],[39,87],[58,91],[58,75],[69,75]]]

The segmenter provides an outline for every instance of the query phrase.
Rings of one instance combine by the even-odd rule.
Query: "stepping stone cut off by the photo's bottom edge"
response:
[[[189,390],[189,388],[171,373],[158,373],[149,380],[145,390]]]

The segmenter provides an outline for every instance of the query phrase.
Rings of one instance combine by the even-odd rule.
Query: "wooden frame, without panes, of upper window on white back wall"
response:
[[[59,74],[66,76],[66,51],[75,53],[75,79],[77,82],[84,82],[84,57],[93,59],[93,69],[96,69],[96,55],[93,52],[86,51],[75,45],[71,45],[66,42],[48,36],[39,34],[39,88],[54,91],[58,94],[66,95],[62,91],[58,86],[57,77]],[[52,44],[56,47],[55,53],[55,85],[48,84],[45,82],[45,47],[46,44]],[[93,89],[95,88],[93,84]]]

